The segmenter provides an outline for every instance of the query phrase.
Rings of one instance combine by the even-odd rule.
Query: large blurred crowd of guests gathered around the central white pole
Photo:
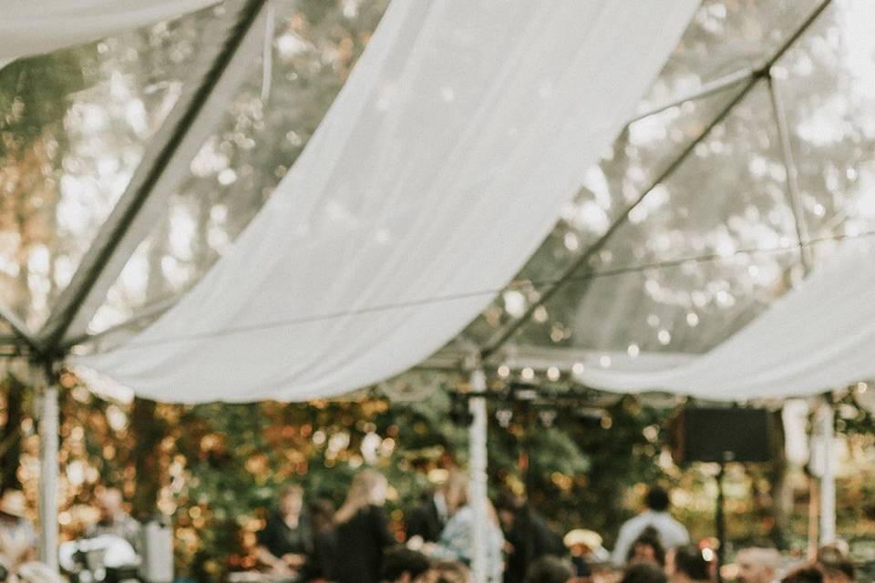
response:
[[[406,513],[403,537],[389,530],[383,506],[386,478],[360,472],[334,511],[318,499],[304,506],[304,491],[287,486],[258,534],[257,556],[274,575],[335,583],[467,583],[472,562],[473,512],[468,480],[450,473]],[[715,551],[691,543],[670,513],[669,496],[654,486],[646,509],[620,527],[612,553],[602,538],[575,529],[555,533],[520,496],[489,503],[486,574],[489,583],[713,583]],[[852,583],[854,566],[839,546],[824,547],[812,563],[787,565],[774,548],[737,553],[738,583]]]

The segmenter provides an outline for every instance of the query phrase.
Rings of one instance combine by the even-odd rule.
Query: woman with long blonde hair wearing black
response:
[[[337,583],[378,583],[383,553],[395,544],[383,505],[386,477],[366,469],[353,478],[346,501],[335,513]]]

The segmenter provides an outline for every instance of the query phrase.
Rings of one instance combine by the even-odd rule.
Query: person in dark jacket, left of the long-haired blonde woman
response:
[[[256,556],[276,574],[295,574],[313,549],[313,530],[303,510],[301,486],[283,487],[276,509],[258,533]]]

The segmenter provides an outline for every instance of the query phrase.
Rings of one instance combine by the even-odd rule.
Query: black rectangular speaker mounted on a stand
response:
[[[681,462],[767,462],[766,409],[687,407],[674,419],[672,457]]]

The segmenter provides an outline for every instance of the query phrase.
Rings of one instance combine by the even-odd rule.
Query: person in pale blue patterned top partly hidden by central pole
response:
[[[455,560],[471,564],[474,543],[471,538],[471,524],[474,521],[474,511],[468,506],[468,477],[464,474],[454,474],[448,479],[447,506],[449,522],[444,527],[437,543],[429,543],[423,550],[427,555],[441,560]],[[489,583],[501,581],[504,562],[501,550],[504,547],[504,537],[501,535],[498,518],[489,506],[489,521],[487,522],[486,541],[486,575]]]

